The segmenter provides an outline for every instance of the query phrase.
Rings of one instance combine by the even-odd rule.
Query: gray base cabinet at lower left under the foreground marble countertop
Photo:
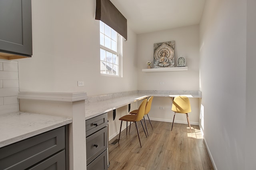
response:
[[[68,125],[0,148],[0,170],[68,170],[66,162]]]

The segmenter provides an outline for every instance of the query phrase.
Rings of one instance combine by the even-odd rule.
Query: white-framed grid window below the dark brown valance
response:
[[[120,69],[119,34],[100,21],[100,73],[119,76]]]

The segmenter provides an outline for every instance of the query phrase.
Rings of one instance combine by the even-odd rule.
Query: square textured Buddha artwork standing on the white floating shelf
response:
[[[154,44],[154,68],[174,67],[175,41]]]

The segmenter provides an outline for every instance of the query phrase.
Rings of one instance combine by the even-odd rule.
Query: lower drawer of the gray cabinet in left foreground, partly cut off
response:
[[[65,170],[65,150],[44,160],[28,170]]]

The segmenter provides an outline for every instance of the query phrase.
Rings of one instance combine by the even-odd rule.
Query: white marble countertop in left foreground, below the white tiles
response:
[[[16,112],[0,115],[0,148],[72,123],[72,118]]]

